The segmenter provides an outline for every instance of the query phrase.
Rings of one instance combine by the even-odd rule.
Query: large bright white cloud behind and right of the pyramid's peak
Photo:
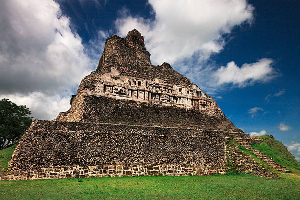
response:
[[[155,20],[132,17],[123,11],[116,20],[118,34],[125,36],[137,28],[145,36],[151,61],[161,64],[200,52],[200,60],[220,52],[223,34],[236,25],[252,20],[253,7],[246,0],[149,0]]]

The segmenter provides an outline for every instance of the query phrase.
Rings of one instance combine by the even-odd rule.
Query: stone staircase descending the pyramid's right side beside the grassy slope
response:
[[[254,150],[250,146],[250,143],[259,142],[260,139],[258,139],[256,137],[250,137],[250,139],[249,139],[249,135],[247,134],[248,138],[246,138],[246,135],[244,135],[244,134],[247,134],[247,133],[231,133],[230,137],[232,139],[234,139],[235,141],[237,141],[241,146],[243,146],[246,149],[253,152],[259,159],[261,159],[262,161],[264,161],[265,163],[267,163],[268,165],[273,167],[275,170],[277,170],[279,172],[290,172],[289,170],[286,169],[286,167],[275,163],[270,157],[265,155],[263,152],[260,152],[260,150]],[[245,136],[245,137],[243,137],[243,136]]]

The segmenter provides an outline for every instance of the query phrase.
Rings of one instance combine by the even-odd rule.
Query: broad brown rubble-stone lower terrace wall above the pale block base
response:
[[[179,164],[224,166],[223,131],[34,121],[16,147],[9,170],[50,166]]]

